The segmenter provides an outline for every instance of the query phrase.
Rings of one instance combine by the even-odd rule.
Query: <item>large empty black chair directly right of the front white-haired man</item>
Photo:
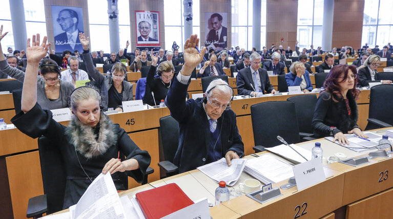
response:
[[[256,152],[263,151],[264,147],[280,145],[278,135],[288,144],[300,142],[295,103],[292,101],[254,104],[251,106],[251,121]]]

